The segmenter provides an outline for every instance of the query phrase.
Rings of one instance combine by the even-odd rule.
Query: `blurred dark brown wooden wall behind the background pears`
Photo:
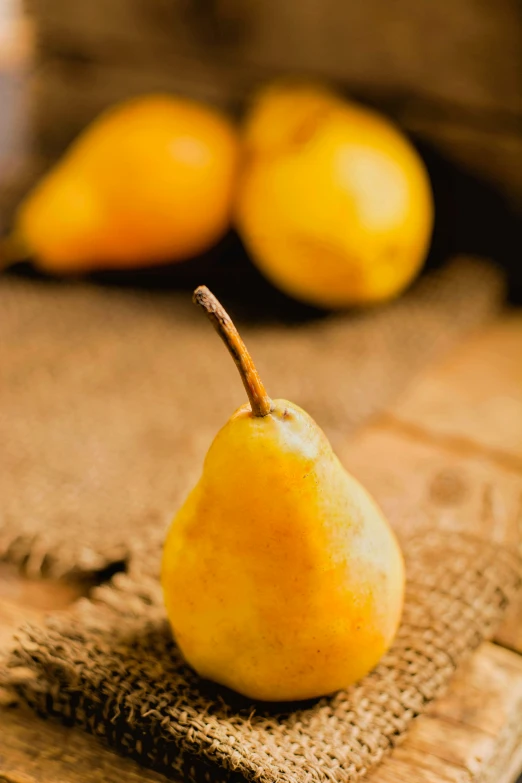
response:
[[[519,0],[27,0],[37,139],[55,154],[151,90],[237,110],[281,73],[332,79],[522,204]]]

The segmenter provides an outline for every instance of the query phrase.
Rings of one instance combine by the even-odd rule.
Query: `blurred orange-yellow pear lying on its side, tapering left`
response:
[[[15,236],[53,272],[185,259],[227,230],[237,138],[218,112],[149,96],[103,114],[21,205]]]

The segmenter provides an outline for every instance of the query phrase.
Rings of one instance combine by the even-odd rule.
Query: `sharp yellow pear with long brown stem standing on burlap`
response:
[[[229,316],[194,301],[236,362],[249,403],[218,432],[164,545],[167,614],[185,660],[251,699],[349,686],[389,648],[404,564],[377,504],[297,405],[271,400]]]

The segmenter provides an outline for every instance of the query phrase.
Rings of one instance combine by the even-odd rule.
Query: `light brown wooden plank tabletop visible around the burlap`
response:
[[[396,405],[337,450],[399,534],[428,508],[452,530],[522,541],[522,314],[506,313],[418,378]],[[63,609],[86,587],[0,571],[0,645],[16,627]],[[522,601],[446,694],[418,718],[369,783],[513,783],[522,770]],[[502,646],[501,646],[502,645]],[[511,649],[507,649],[507,648]],[[0,709],[0,781],[160,783],[161,775],[76,729],[20,706]],[[74,754],[70,749],[74,748]],[[81,755],[81,768],[71,759]]]

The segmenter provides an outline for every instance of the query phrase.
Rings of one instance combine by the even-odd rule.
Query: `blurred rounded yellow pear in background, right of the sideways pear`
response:
[[[273,283],[323,307],[408,285],[427,253],[432,197],[388,120],[326,89],[276,85],[254,102],[244,145],[237,224]]]

